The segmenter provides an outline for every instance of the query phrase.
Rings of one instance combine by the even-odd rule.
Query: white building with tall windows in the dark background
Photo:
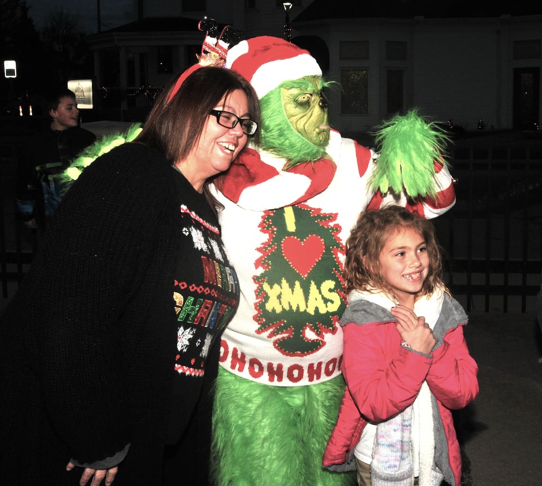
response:
[[[466,130],[535,129],[539,123],[542,5],[472,0],[297,0],[288,12],[292,42],[310,50],[328,80],[330,121],[365,132],[400,110]],[[134,0],[133,23],[90,38],[98,86],[152,93],[196,62],[204,16],[242,38],[285,37],[276,0]],[[105,68],[107,66],[107,68]],[[125,93],[132,94],[126,97]],[[149,106],[152,100],[147,103]]]

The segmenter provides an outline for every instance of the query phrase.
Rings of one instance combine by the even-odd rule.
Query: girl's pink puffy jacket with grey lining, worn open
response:
[[[410,406],[424,380],[433,393],[435,463],[444,480],[461,484],[461,455],[451,410],[461,409],[478,395],[478,366],[463,336],[467,316],[457,301],[444,295],[434,327],[437,343],[431,355],[401,346],[395,320],[388,310],[367,301],[351,304],[343,319],[342,371],[346,389],[337,424],[328,441],[322,466],[355,469],[353,449],[370,422],[384,422]]]

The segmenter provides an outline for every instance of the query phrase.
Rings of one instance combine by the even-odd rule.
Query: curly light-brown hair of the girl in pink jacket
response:
[[[393,297],[390,286],[380,273],[379,257],[386,241],[405,228],[413,229],[422,235],[429,257],[429,272],[416,298],[431,294],[438,287],[446,290],[442,281],[441,249],[435,238],[433,223],[403,207],[388,206],[376,211],[362,212],[356,226],[351,229],[346,240],[344,263],[346,292],[377,290]]]

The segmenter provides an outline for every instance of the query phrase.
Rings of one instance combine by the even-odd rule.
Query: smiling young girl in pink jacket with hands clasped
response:
[[[433,225],[397,206],[368,211],[346,248],[346,390],[322,465],[355,467],[360,486],[459,486],[450,410],[478,394],[478,367]]]

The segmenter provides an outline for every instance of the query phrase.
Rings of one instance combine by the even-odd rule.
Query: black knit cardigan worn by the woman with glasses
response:
[[[70,458],[92,463],[127,444],[114,484],[160,484],[170,409],[190,416],[201,389],[183,396],[178,380],[189,373],[173,371],[173,282],[179,269],[188,284],[204,273],[187,214],[218,228],[204,196],[156,149],[134,143],[94,161],[69,189],[0,322],[5,484],[77,484],[82,469],[64,471]],[[238,288],[210,287],[228,313],[236,307]]]

